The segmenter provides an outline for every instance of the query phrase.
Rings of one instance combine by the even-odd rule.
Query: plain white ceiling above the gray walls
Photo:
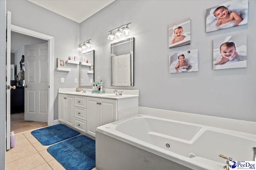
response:
[[[114,0],[28,0],[70,20],[81,23]]]

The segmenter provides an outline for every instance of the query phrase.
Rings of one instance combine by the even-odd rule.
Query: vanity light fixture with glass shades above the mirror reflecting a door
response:
[[[124,24],[124,25],[122,25],[120,27],[117,27],[115,29],[112,29],[112,30],[108,31],[108,32],[110,32],[110,34],[108,35],[108,40],[114,40],[116,38],[121,38],[124,35],[130,35],[132,33],[131,30],[128,27],[128,25],[130,25],[130,24],[131,24],[131,22],[130,23],[126,23],[126,24]],[[116,31],[116,30],[117,30],[117,32],[114,35],[112,33],[112,31]]]

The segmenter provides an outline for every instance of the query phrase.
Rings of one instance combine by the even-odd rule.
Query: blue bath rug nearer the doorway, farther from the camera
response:
[[[80,133],[62,124],[44,127],[31,132],[31,134],[42,144],[52,145],[64,141]]]

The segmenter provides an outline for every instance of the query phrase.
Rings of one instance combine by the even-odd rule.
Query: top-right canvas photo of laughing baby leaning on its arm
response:
[[[248,23],[248,0],[233,0],[206,9],[206,32]]]

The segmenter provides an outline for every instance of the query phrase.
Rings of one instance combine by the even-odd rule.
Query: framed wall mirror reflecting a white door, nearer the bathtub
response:
[[[111,86],[134,86],[134,37],[112,43]]]

